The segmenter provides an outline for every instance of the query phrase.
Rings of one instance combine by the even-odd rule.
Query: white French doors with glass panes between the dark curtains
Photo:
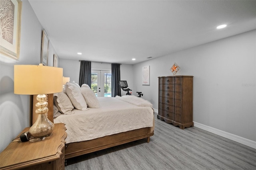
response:
[[[91,88],[97,97],[111,97],[111,71],[92,70]]]

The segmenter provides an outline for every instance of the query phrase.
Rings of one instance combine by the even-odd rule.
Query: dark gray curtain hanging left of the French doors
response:
[[[88,84],[91,87],[91,62],[80,61],[79,86]]]

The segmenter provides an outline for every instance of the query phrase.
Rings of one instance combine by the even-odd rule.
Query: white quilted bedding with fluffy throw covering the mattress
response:
[[[152,104],[142,98],[137,100],[136,96],[101,97],[98,100],[100,108],[85,111],[74,109],[74,114],[62,114],[54,119],[54,123],[66,124],[66,143],[87,141],[153,126]],[[129,100],[134,102],[128,102]]]

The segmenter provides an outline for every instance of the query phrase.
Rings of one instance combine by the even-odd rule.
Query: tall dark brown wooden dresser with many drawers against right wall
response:
[[[166,123],[180,129],[193,123],[193,76],[164,76],[159,78],[158,115]]]

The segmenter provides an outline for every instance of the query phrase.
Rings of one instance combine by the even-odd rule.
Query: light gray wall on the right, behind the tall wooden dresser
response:
[[[158,76],[194,76],[193,121],[256,141],[256,30],[179,51],[133,66],[134,90],[158,109]],[[142,66],[150,65],[150,86]]]

